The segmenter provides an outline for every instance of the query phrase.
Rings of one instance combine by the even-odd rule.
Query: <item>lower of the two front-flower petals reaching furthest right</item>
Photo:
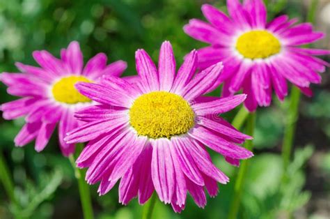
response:
[[[199,142],[210,147],[210,149],[221,153],[223,156],[236,159],[246,159],[253,156],[251,151],[244,149],[242,146],[227,142],[202,126],[194,127],[188,134]]]

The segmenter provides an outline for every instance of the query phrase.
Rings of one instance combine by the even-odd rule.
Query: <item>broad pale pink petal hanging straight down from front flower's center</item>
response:
[[[171,159],[171,142],[168,139],[156,139],[152,144],[151,175],[159,199],[165,204],[171,203],[175,189],[175,173]]]

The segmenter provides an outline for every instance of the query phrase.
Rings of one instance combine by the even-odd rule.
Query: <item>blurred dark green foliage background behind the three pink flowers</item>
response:
[[[286,13],[306,20],[310,1],[265,1],[269,19]],[[226,10],[225,1],[201,0],[0,0],[0,72],[16,72],[15,61],[36,65],[31,52],[48,50],[59,56],[62,47],[78,40],[84,59],[104,52],[109,61],[128,63],[125,75],[134,75],[134,52],[144,48],[157,61],[159,46],[170,40],[178,64],[182,57],[203,43],[182,31],[193,17],[204,20],[201,5],[211,3]],[[330,49],[330,1],[320,0],[315,29],[327,38],[313,47]],[[328,57],[324,59],[329,60]],[[281,141],[288,109],[287,101],[274,98],[272,107],[258,109],[255,154],[242,199],[239,218],[328,218],[330,216],[330,75],[322,75],[315,96],[302,98],[294,139],[294,158],[288,182],[281,181]],[[213,95],[220,95],[220,89]],[[0,85],[0,103],[13,100]],[[235,111],[226,114],[231,121]],[[0,185],[0,218],[82,218],[77,183],[69,160],[61,156],[54,137],[45,151],[37,153],[33,144],[15,148],[13,138],[23,119],[0,119],[0,153],[8,163],[15,181],[18,205],[8,204]],[[170,206],[156,204],[154,218],[226,218],[230,201],[235,198],[233,184],[237,168],[212,153],[214,163],[232,181],[219,185],[216,198],[207,198],[205,209],[198,209],[191,197],[181,214]],[[97,218],[140,218],[142,208],[134,199],[128,206],[118,204],[118,188],[99,197],[92,186],[93,207]]]

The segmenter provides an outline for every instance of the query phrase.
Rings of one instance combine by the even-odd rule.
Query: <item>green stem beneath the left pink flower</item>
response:
[[[81,153],[83,149],[83,144],[77,144],[76,146],[76,157]],[[74,156],[71,155],[69,157],[70,163],[74,169],[74,176],[76,177],[78,181],[78,187],[79,187],[79,195],[80,195],[80,201],[81,201],[81,208],[84,213],[85,219],[93,219],[93,206],[92,206],[92,200],[91,200],[91,192],[89,190],[89,186],[85,181],[86,176],[86,170],[85,169],[79,169],[75,162],[74,162]]]

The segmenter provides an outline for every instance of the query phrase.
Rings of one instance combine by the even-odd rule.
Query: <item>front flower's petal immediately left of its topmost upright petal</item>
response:
[[[148,91],[159,90],[159,78],[155,63],[144,50],[135,52],[136,71],[141,77],[141,82],[148,88]]]

